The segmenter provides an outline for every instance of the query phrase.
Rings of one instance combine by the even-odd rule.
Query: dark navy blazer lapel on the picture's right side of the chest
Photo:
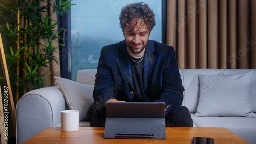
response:
[[[153,54],[155,47],[151,40],[148,40],[145,51],[145,61],[143,66],[143,84],[144,90],[146,91],[147,82],[152,74],[153,67],[156,62],[156,56]]]

